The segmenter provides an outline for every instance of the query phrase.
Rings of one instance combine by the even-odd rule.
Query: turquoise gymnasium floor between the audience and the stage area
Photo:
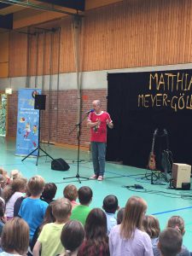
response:
[[[145,177],[146,170],[131,166],[122,166],[107,163],[105,180],[81,179],[79,183],[76,177],[78,171],[78,152],[76,149],[59,148],[54,145],[41,144],[41,147],[54,159],[62,158],[70,166],[69,171],[61,172],[51,170],[51,160],[45,156],[39,157],[38,166],[36,158],[23,158],[15,156],[15,140],[6,140],[0,137],[0,166],[8,172],[18,169],[24,177],[32,177],[36,174],[44,177],[46,182],[53,182],[57,185],[56,197],[62,196],[62,190],[68,183],[80,186],[90,186],[93,190],[93,201],[91,207],[102,207],[102,200],[106,195],[113,194],[119,199],[119,207],[125,207],[125,203],[131,195],[143,197],[148,202],[147,214],[155,214],[160,220],[160,227],[164,229],[166,221],[172,215],[180,215],[185,220],[186,233],[183,237],[183,244],[192,251],[192,193],[191,190],[181,191],[169,189],[169,184],[164,179],[154,180],[150,183],[150,177]],[[88,151],[80,151],[79,155],[79,175],[90,177],[92,174],[92,163]],[[149,171],[147,171],[149,173]],[[150,173],[149,173],[150,174]],[[63,177],[73,177],[63,180]],[[143,189],[125,188],[140,184]]]

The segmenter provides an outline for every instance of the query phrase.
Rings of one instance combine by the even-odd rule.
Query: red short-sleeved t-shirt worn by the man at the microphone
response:
[[[95,123],[101,120],[101,124],[97,127],[90,128],[90,142],[106,143],[107,142],[107,123],[108,119],[111,123],[112,120],[108,112],[102,111],[102,113],[96,114],[95,112],[90,113],[88,120],[91,123]]]

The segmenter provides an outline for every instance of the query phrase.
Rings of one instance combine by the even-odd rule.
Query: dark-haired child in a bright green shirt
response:
[[[73,208],[71,219],[79,220],[83,225],[90,213],[90,202],[92,201],[93,192],[90,187],[83,186],[78,191],[80,205]]]

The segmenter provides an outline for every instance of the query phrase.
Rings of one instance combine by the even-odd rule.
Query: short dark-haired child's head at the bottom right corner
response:
[[[161,256],[176,256],[181,251],[183,236],[172,228],[167,228],[160,232],[158,247]]]

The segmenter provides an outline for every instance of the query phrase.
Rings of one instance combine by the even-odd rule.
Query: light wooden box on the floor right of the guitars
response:
[[[183,183],[190,183],[191,166],[186,164],[172,164],[172,180],[175,189],[183,189]]]

